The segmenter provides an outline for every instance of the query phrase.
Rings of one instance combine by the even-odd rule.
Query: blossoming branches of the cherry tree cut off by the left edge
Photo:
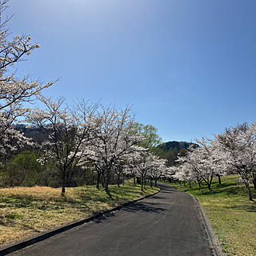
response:
[[[40,94],[54,84],[48,82],[42,84],[31,81],[28,77],[16,78],[13,70],[14,64],[23,57],[30,55],[39,45],[31,42],[30,35],[16,35],[10,37],[7,23],[10,18],[5,18],[4,12],[7,0],[0,1],[0,154],[5,158],[6,149],[15,150],[17,146],[27,142],[17,130],[14,130],[14,122],[26,114],[27,108],[22,106],[24,102],[30,102],[33,96]],[[22,142],[23,141],[23,142]],[[12,143],[17,142],[16,146]],[[24,144],[23,143],[23,144]]]

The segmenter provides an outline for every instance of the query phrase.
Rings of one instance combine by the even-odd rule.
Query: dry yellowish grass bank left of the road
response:
[[[60,189],[46,186],[0,189],[0,246],[158,191],[140,189],[131,183],[111,185],[110,197],[104,190],[83,186],[67,188],[65,198]]]

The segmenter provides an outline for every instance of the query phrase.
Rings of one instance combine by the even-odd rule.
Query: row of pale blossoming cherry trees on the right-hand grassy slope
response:
[[[197,148],[190,148],[186,156],[178,158],[173,167],[174,178],[180,181],[196,181],[199,189],[202,181],[209,190],[212,180],[221,175],[238,174],[253,200],[250,184],[256,190],[256,123],[226,128],[214,139],[196,140]]]

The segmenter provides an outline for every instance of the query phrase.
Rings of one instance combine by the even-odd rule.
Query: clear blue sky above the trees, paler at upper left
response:
[[[254,0],[10,0],[13,34],[40,49],[17,74],[47,96],[132,106],[164,142],[218,134],[256,114]]]

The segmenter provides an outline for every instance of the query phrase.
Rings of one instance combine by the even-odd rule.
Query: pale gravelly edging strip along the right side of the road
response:
[[[192,194],[190,194],[190,196],[194,199],[196,206],[198,206],[198,212],[201,215],[202,224],[206,230],[208,241],[210,242],[210,247],[214,256],[225,256],[226,254],[222,252],[222,246],[219,244],[218,236],[215,234],[214,229],[210,224],[209,218],[206,216],[205,210],[203,209],[200,200]]]

